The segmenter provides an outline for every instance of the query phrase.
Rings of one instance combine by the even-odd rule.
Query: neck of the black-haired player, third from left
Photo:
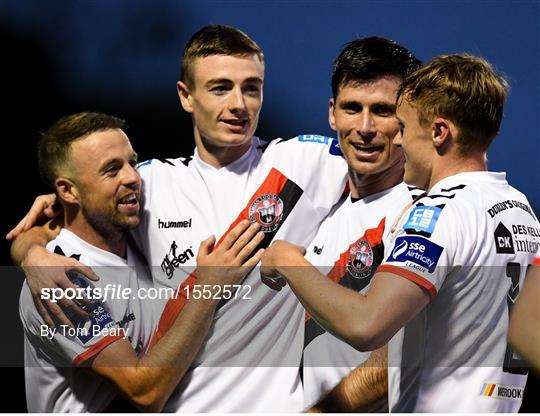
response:
[[[365,198],[403,182],[403,161],[371,175],[362,175],[349,169],[349,188],[353,198]]]

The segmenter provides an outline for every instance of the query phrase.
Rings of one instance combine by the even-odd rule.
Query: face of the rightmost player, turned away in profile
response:
[[[404,181],[428,189],[433,161],[431,129],[420,124],[418,110],[407,99],[401,100],[396,114],[400,133],[395,143],[401,145],[405,153]]]

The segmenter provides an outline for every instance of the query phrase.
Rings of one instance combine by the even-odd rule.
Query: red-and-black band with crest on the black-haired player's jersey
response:
[[[339,259],[336,260],[326,276],[341,286],[357,292],[364,289],[384,259],[383,233],[385,220],[386,218],[383,218],[376,228],[366,230],[362,237],[341,253]],[[367,264],[368,262],[369,264]],[[309,313],[306,313],[305,323],[304,348],[319,335],[326,332]]]

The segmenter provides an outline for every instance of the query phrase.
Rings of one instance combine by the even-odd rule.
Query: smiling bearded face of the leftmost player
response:
[[[81,211],[90,225],[115,233],[139,224],[137,155],[122,130],[99,131],[73,142],[71,159]]]

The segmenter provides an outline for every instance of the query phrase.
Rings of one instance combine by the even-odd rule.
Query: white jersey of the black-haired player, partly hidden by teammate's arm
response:
[[[306,259],[333,281],[365,293],[383,260],[386,213],[401,210],[411,203],[411,190],[400,183],[359,200],[353,201],[349,196],[323,222],[307,250]],[[315,404],[368,357],[369,353],[355,350],[306,314],[305,406]]]

